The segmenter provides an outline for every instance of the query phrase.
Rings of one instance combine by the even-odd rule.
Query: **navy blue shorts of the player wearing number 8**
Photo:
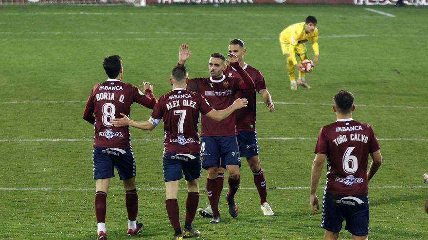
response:
[[[132,148],[94,147],[92,160],[94,179],[114,177],[114,167],[116,167],[121,180],[136,175]]]

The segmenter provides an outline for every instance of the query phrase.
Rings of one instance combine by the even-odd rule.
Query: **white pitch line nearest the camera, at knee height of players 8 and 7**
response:
[[[319,187],[321,188],[321,186]],[[322,187],[323,188],[323,187]],[[370,189],[428,189],[428,186],[371,186]],[[224,188],[227,190],[227,188]],[[268,188],[269,190],[301,190],[309,189],[308,186],[304,187],[275,187]],[[121,188],[110,188],[110,190],[123,190]],[[140,191],[164,191],[165,188],[138,188]],[[179,190],[185,191],[187,188],[180,188]],[[200,188],[199,190],[205,191]],[[257,190],[257,188],[239,188],[239,190]],[[95,191],[95,188],[0,188],[0,191]]]

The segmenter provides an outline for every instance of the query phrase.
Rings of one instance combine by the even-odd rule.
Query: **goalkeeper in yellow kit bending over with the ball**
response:
[[[310,39],[312,39],[312,48],[315,53],[313,61],[314,63],[318,62],[320,51],[318,48],[318,28],[316,26],[317,18],[315,16],[308,16],[305,22],[290,25],[279,35],[281,49],[287,58],[287,70],[292,90],[297,90],[297,83],[303,87],[310,88],[304,79],[304,68],[301,63],[304,59],[307,59],[304,43]],[[300,58],[300,63],[297,63],[296,54]],[[294,76],[294,67],[300,70],[297,82]]]

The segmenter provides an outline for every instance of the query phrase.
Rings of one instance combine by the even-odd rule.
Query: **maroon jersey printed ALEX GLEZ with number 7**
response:
[[[158,125],[163,118],[165,153],[199,153],[197,123],[199,112],[213,110],[205,98],[183,88],[161,96],[153,108],[150,122]]]

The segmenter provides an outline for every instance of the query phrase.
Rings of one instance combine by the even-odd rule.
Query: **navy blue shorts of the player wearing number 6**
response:
[[[356,236],[369,234],[369,199],[367,195],[347,196],[326,193],[323,197],[321,227],[338,233],[342,222]]]

